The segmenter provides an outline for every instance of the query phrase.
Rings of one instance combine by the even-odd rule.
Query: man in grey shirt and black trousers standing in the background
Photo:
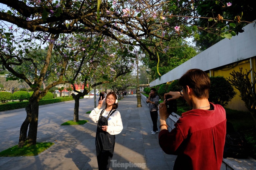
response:
[[[156,134],[156,132],[158,132],[158,128],[157,128],[158,101],[159,101],[159,97],[156,95],[156,89],[151,88],[149,93],[149,98],[146,101],[146,103],[149,103],[150,116],[153,122],[153,130],[151,131],[152,132],[151,134]]]

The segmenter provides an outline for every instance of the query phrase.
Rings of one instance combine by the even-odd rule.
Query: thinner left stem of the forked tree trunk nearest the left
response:
[[[27,112],[27,117],[20,127],[20,136],[19,136],[19,144],[18,144],[19,148],[22,148],[25,144],[25,141],[27,140],[28,125],[29,125],[29,122],[31,121],[31,105],[30,104],[28,104],[28,106],[26,107],[26,112]]]

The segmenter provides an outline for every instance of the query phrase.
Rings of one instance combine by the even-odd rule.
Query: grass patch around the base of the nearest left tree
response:
[[[53,144],[54,143],[51,142],[36,143],[36,145],[25,144],[25,146],[22,148],[18,148],[18,145],[15,145],[9,149],[0,152],[0,157],[36,156],[51,147]]]

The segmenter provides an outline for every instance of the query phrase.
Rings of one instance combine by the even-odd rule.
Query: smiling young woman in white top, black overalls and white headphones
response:
[[[100,109],[106,100],[106,108]],[[99,170],[108,170],[115,147],[115,135],[123,129],[120,112],[117,111],[117,95],[109,92],[105,99],[100,100],[98,107],[91,111],[89,117],[98,122],[96,132],[96,153]]]

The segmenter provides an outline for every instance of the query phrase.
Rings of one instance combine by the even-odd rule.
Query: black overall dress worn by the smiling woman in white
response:
[[[115,140],[116,140],[115,135],[111,135],[108,132],[103,131],[101,129],[102,126],[105,126],[105,125],[108,126],[108,119],[116,110],[112,111],[111,109],[107,118],[102,116],[102,113],[104,112],[104,110],[105,109],[103,109],[100,113],[100,117],[97,125],[96,141],[95,141],[99,170],[109,169],[110,160],[113,157]]]

